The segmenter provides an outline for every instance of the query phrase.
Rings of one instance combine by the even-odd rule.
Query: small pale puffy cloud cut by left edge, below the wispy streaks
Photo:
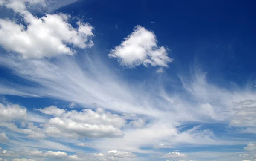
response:
[[[26,108],[19,105],[4,106],[0,103],[0,121],[12,121],[18,119],[26,119]]]

